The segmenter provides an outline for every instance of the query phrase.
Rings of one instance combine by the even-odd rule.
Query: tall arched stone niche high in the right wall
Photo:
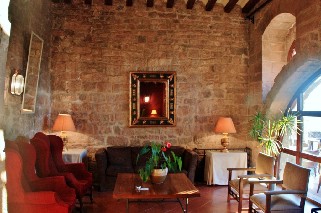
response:
[[[287,63],[287,53],[295,39],[295,16],[275,16],[262,35],[262,102],[271,90],[275,77]]]

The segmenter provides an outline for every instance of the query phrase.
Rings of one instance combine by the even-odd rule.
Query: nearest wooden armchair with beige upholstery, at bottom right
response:
[[[248,212],[258,212],[252,207],[255,204],[265,213],[304,213],[305,200],[308,193],[310,169],[297,164],[286,162],[283,180],[249,180],[250,200]],[[254,194],[255,185],[262,183],[282,184],[281,191],[264,191],[264,193]],[[295,195],[301,197],[300,203],[296,202]]]

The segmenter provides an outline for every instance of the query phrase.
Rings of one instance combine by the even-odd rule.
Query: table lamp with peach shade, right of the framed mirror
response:
[[[227,137],[227,134],[236,132],[232,118],[219,118],[214,132],[223,133],[224,136],[221,138],[221,145],[223,146],[223,149],[221,149],[221,152],[229,152],[229,150],[226,148],[230,143],[230,139]]]

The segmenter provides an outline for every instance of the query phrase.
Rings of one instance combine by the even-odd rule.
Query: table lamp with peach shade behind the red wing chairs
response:
[[[68,151],[66,147],[68,143],[68,136],[66,135],[66,131],[76,131],[71,115],[59,114],[54,126],[52,127],[52,130],[61,131],[62,135],[60,136],[60,138],[64,142],[63,151]]]

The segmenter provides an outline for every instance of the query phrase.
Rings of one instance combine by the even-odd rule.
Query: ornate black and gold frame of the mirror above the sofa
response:
[[[130,71],[129,72],[129,127],[176,127],[176,72]],[[140,91],[142,82],[165,84],[164,112],[157,117],[142,117]]]

